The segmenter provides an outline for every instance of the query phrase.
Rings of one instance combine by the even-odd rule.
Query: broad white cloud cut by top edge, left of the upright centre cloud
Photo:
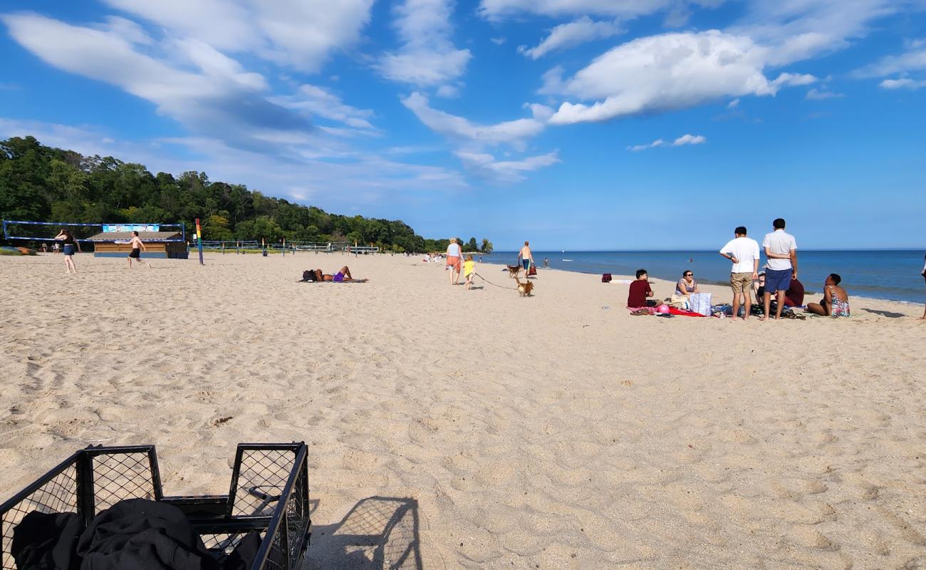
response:
[[[125,12],[220,51],[257,53],[318,71],[331,51],[354,44],[373,0],[104,0]]]

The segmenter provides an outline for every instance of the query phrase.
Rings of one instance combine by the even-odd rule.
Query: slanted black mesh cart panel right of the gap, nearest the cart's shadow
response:
[[[244,450],[232,516],[273,514],[294,461],[293,450]]]

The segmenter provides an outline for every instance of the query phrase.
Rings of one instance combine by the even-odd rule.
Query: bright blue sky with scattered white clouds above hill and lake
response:
[[[50,0],[0,137],[497,249],[922,247],[926,0]]]

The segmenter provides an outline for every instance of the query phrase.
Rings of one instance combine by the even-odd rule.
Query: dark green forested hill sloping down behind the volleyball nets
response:
[[[211,182],[205,172],[155,175],[142,164],[84,157],[31,136],[0,142],[0,219],[185,222],[189,229],[196,218],[203,222],[204,239],[348,241],[400,252],[439,251],[448,243],[425,239],[405,222],[330,214],[243,184]],[[469,249],[476,248],[475,241],[469,240]]]

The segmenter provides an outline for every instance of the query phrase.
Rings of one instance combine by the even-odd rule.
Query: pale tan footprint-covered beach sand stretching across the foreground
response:
[[[345,262],[370,282],[296,283]],[[91,443],[204,494],[237,442],[305,440],[305,568],[926,566],[921,306],[734,323],[406,257],[77,264],[0,257],[4,499]]]

